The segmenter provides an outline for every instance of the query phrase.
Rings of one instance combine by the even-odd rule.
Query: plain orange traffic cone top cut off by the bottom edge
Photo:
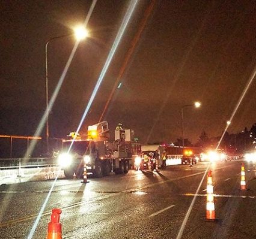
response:
[[[59,223],[60,214],[60,209],[52,209],[52,215],[50,216],[50,222],[48,223],[47,239],[62,239],[61,223]]]

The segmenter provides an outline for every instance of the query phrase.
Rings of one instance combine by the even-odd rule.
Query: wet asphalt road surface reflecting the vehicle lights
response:
[[[46,238],[50,210],[62,209],[62,238],[256,238],[256,179],[246,165],[250,190],[241,192],[241,161],[210,165],[218,222],[205,222],[206,179],[190,203],[207,163],[177,165],[153,174],[129,171],[102,179],[59,179],[33,238]],[[248,171],[249,170],[249,171]],[[0,238],[28,238],[54,180],[0,186]]]

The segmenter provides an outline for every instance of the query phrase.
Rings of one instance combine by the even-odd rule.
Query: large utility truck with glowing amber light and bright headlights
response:
[[[121,127],[115,129],[114,142],[109,138],[108,122],[103,121],[88,126],[84,140],[64,140],[59,161],[62,161],[65,176],[71,178],[75,173],[81,178],[84,167],[96,177],[109,176],[111,171],[128,173],[132,160],[141,152],[141,145],[133,140],[132,130]]]

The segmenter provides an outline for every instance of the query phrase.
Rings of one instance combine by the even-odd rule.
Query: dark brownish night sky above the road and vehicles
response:
[[[139,22],[150,1],[139,1],[120,47],[85,119],[96,123],[106,104]],[[45,110],[44,45],[84,22],[91,1],[0,1],[0,134],[33,135]],[[82,113],[111,49],[129,1],[98,0],[49,116],[50,137],[65,137]],[[75,44],[72,37],[49,44],[52,94]],[[105,119],[122,122],[142,143],[197,141],[224,131],[256,65],[255,1],[156,1]],[[253,81],[228,132],[256,122]],[[151,134],[150,134],[151,132]],[[150,134],[150,137],[148,135]],[[44,130],[42,132],[44,137]]]

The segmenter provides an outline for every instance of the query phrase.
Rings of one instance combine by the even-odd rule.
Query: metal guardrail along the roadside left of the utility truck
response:
[[[56,158],[16,158],[0,159],[0,170],[10,170],[17,168],[42,168],[57,165]]]

